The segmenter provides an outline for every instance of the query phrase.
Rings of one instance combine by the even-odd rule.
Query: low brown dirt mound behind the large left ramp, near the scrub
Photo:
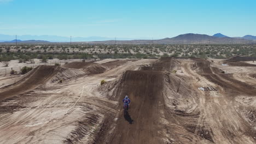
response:
[[[84,69],[88,74],[100,74],[106,71],[106,67],[93,62],[72,62],[63,65],[64,68]]]

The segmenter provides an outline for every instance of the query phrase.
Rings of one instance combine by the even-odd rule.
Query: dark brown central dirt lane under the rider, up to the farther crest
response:
[[[171,143],[168,135],[185,133],[187,130],[181,125],[170,125],[170,120],[166,120],[169,118],[167,115],[173,115],[167,112],[169,108],[165,101],[164,88],[171,86],[166,79],[167,71],[173,70],[178,63],[173,58],[161,58],[143,70],[125,71],[115,88],[114,100],[120,102],[117,107],[120,110],[117,122],[106,124],[107,130],[103,130],[103,134],[97,137],[95,143]],[[129,95],[131,104],[127,115],[124,116],[121,101],[125,95]],[[199,136],[194,134],[188,135],[199,139]],[[181,136],[177,139],[187,141]]]

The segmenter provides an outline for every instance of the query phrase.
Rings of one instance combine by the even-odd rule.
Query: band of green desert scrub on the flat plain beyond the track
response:
[[[39,58],[48,59],[91,59],[91,58],[158,58],[158,57],[201,57],[225,58],[230,56],[256,57],[256,45],[252,44],[76,44],[71,48],[67,44],[11,44],[0,45],[0,61],[31,62]]]

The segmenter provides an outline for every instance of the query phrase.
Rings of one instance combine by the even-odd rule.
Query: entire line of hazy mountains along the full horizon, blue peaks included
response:
[[[194,34],[194,33],[187,33],[181,34],[177,37],[173,38],[164,38],[158,40],[149,40],[147,38],[141,39],[129,39],[129,38],[118,38],[117,44],[256,44],[256,40],[253,40],[255,36],[246,35],[242,38],[231,38],[226,37],[223,34],[214,34],[215,36],[210,36],[206,34]],[[1,35],[0,39],[8,39],[8,38],[15,38],[15,36],[10,35]],[[50,43],[51,42],[69,42],[70,37],[60,37],[55,35],[21,35],[17,36],[21,41],[18,43]],[[31,40],[28,38],[38,39],[38,40]],[[94,43],[94,44],[115,44],[115,38],[105,38],[105,37],[75,37],[72,38],[73,42],[83,42],[83,43]],[[123,39],[123,40],[120,40]],[[1,40],[0,40],[1,41]],[[6,41],[6,40],[5,40]],[[2,42],[3,43],[3,42]],[[4,43],[15,43],[15,40],[8,40],[8,42]]]

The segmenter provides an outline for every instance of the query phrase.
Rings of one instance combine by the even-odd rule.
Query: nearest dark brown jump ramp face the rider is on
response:
[[[110,143],[159,143],[160,137],[156,124],[159,120],[159,112],[164,106],[161,95],[163,74],[161,71],[131,71],[125,72],[121,79],[119,101],[123,95],[129,95],[132,99],[131,109],[124,120],[120,114],[117,128],[114,131]],[[120,107],[123,104],[120,104]],[[130,123],[127,123],[127,121]],[[132,123],[132,124],[131,124]],[[159,138],[158,138],[159,137]]]

